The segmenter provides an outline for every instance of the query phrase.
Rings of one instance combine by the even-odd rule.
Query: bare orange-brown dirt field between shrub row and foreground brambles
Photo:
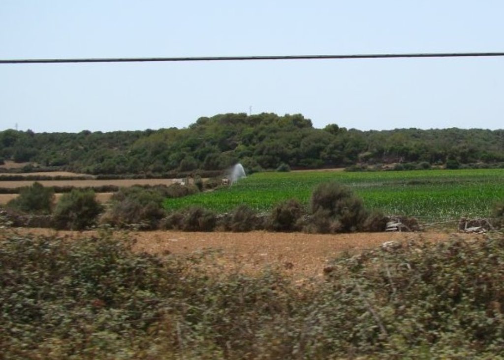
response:
[[[21,229],[22,232],[58,234],[78,238],[92,232],[56,232],[50,229]],[[117,236],[125,233],[116,232]],[[477,235],[456,234],[462,237]],[[375,248],[390,240],[443,241],[455,233],[356,233],[356,234],[303,234],[254,231],[231,232],[130,232],[136,239],[135,251],[157,254],[183,254],[209,249],[217,250],[212,261],[229,269],[256,272],[265,266],[279,266],[293,275],[295,280],[321,278],[328,261],[343,251],[358,253]]]

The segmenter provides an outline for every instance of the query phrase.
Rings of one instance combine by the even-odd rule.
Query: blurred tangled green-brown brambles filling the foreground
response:
[[[504,358],[502,234],[343,254],[304,283],[131,245],[0,235],[2,356]]]

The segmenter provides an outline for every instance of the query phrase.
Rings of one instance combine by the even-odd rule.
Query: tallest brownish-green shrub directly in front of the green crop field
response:
[[[311,195],[310,207],[309,232],[357,231],[368,217],[362,200],[337,183],[320,184]]]

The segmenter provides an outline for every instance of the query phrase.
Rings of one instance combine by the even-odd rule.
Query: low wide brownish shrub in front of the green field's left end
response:
[[[169,214],[162,222],[165,229],[182,231],[213,231],[217,222],[215,213],[193,206]]]

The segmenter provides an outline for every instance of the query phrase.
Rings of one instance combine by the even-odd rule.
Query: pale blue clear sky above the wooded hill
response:
[[[0,0],[0,59],[503,52],[501,0]],[[0,130],[504,128],[504,57],[0,64]]]

